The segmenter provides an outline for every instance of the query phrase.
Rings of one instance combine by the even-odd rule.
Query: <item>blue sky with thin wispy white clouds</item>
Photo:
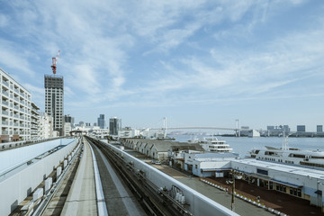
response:
[[[324,1],[0,0],[0,67],[44,112],[64,76],[75,121],[324,124]]]

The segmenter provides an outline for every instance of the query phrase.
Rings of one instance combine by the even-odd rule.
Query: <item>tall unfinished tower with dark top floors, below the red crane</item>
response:
[[[63,76],[45,75],[45,112],[53,117],[53,128],[62,136],[64,113],[64,83]]]

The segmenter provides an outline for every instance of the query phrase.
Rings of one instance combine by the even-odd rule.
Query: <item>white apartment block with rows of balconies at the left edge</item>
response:
[[[31,93],[0,68],[0,142],[31,140]]]

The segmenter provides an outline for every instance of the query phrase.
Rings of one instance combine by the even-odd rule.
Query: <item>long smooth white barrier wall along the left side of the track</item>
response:
[[[57,139],[59,142],[59,139]],[[64,148],[27,166],[21,172],[0,182],[0,215],[8,215],[17,207],[52,171],[55,166],[74,149],[77,139]]]

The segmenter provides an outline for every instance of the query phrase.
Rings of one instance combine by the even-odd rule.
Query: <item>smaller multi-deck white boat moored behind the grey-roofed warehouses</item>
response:
[[[191,139],[189,143],[199,143],[205,151],[208,152],[232,152],[233,148],[229,147],[229,144],[225,140],[219,140],[217,137],[204,137],[202,139]]]

